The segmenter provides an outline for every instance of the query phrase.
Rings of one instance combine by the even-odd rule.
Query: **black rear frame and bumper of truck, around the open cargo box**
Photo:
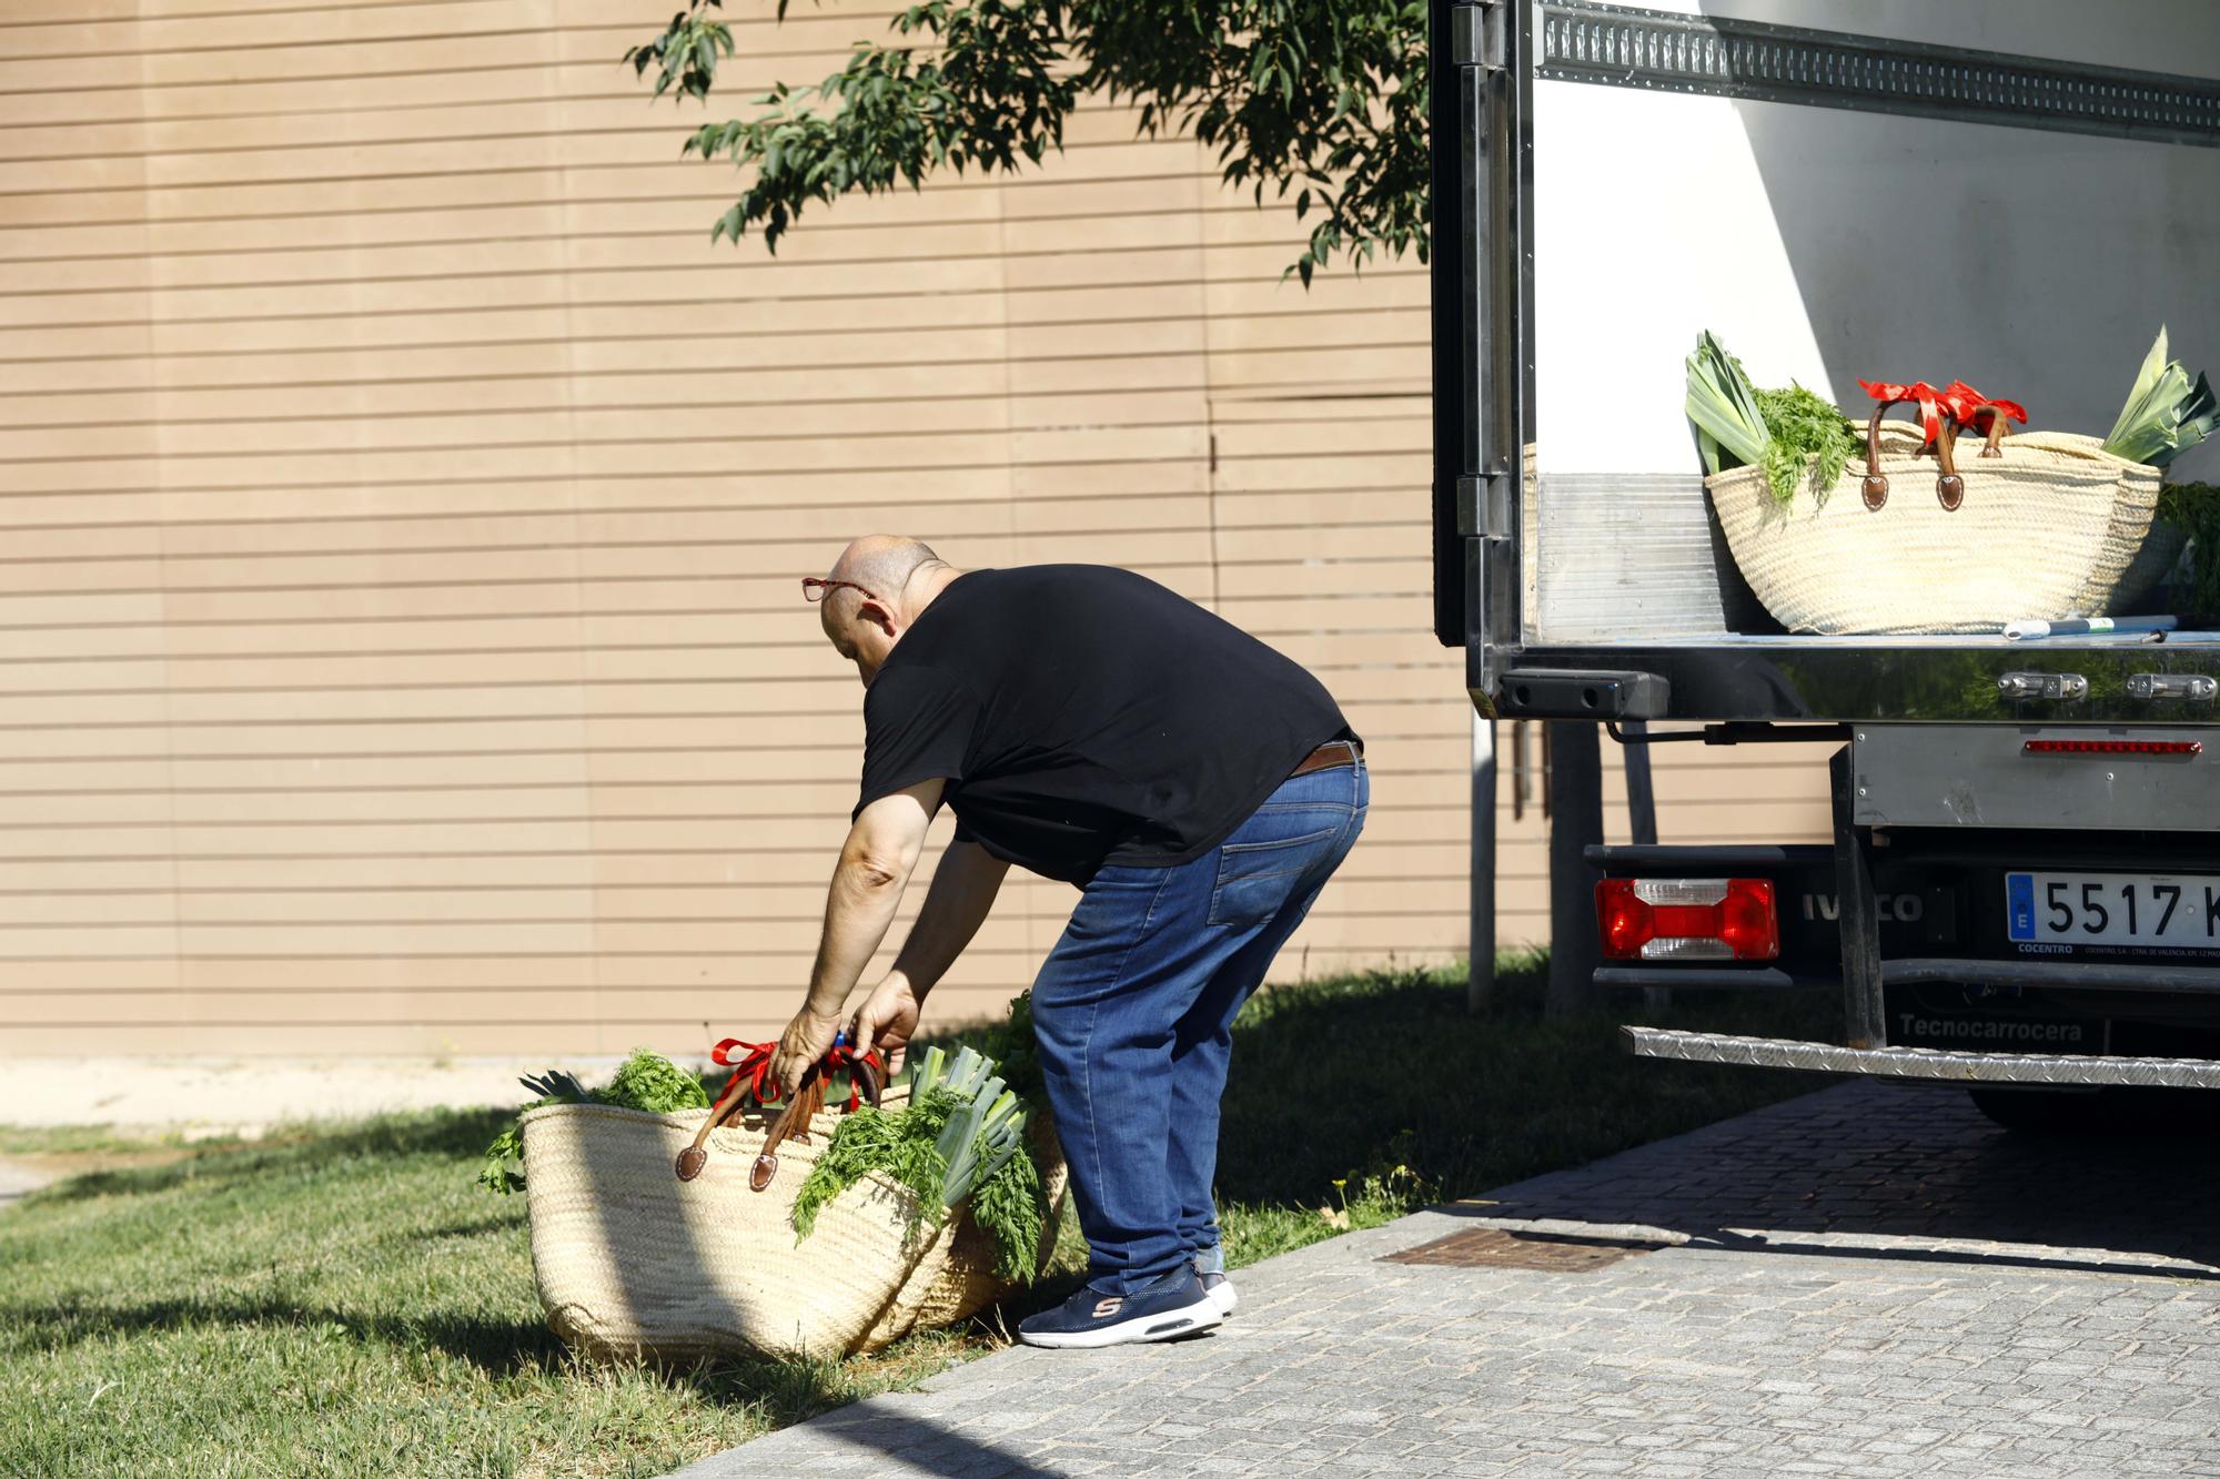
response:
[[[1629,1048],[1967,1086],[2220,1088],[2220,766],[2204,748],[2220,742],[2220,640],[1552,646],[1521,608],[1536,80],[2191,147],[2220,147],[2220,82],[1581,0],[1434,0],[1432,27],[1434,626],[1465,648],[1479,715],[1836,746],[1832,846],[1607,846],[1587,862],[1590,882],[1767,879],[1780,915],[1774,962],[1612,962],[1598,984],[1840,990],[1843,1042],[1634,1026]],[[2007,915],[2040,888],[2082,924],[2173,891],[2209,939],[2016,937]]]

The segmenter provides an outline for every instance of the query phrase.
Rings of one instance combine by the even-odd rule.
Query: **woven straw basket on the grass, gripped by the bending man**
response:
[[[897,1108],[906,1088],[888,1088]],[[710,1110],[646,1115],[551,1104],[524,1115],[524,1190],[533,1275],[548,1326],[593,1355],[828,1357],[877,1350],[912,1328],[968,1319],[1015,1286],[968,1210],[941,1228],[915,1221],[908,1188],[870,1175],[795,1241],[793,1204],[839,1124],[828,1106],[808,1141],[779,1146],[773,1184],[748,1190],[768,1115],[750,1110],[708,1137],[708,1166],[670,1166]],[[1039,1130],[1050,1197],[1041,1264],[1054,1246],[1063,1157]]]

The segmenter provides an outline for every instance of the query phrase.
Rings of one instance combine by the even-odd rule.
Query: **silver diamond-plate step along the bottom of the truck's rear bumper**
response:
[[[1832,1042],[1621,1028],[1634,1057],[1747,1068],[1812,1068],[1878,1079],[1943,1084],[2138,1084],[2220,1088],[2220,1062],[2204,1057],[2096,1057],[2069,1053],[1949,1053],[1943,1048],[1843,1048]]]

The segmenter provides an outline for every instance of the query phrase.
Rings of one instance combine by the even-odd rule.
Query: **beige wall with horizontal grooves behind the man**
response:
[[[1312,666],[1376,793],[1281,973],[1463,950],[1421,269],[1281,282],[1292,213],[1112,109],[713,249],[730,169],[617,64],[668,9],[0,0],[0,1050],[766,1030],[861,740],[795,577],[870,529]],[[737,4],[722,98],[881,13]],[[1663,759],[1667,839],[1816,833],[1800,755]],[[1532,939],[1507,791],[1503,837]],[[1012,882],[941,1010],[1070,897]]]

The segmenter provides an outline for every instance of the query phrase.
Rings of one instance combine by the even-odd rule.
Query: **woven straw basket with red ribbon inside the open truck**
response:
[[[2029,431],[1920,455],[1916,426],[1867,426],[1867,466],[1820,500],[1778,504],[1765,471],[1705,480],[1734,562],[1805,633],[1998,633],[2005,622],[2113,611],[2158,506],[2156,466],[2098,437]],[[1951,482],[1956,480],[1956,486]]]

